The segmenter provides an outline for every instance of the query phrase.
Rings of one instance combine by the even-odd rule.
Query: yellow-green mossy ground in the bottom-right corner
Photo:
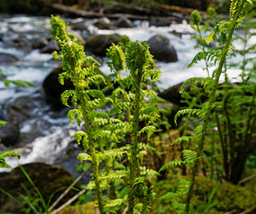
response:
[[[157,192],[154,211],[152,213],[177,213],[177,209],[174,207],[175,203],[183,203],[186,196],[181,198],[175,198],[172,201],[162,201],[159,202],[160,196],[166,194],[167,192],[176,192],[178,181],[181,178],[173,176],[167,181],[161,181],[155,185],[155,191]],[[189,180],[189,177],[186,178]],[[204,213],[207,201],[212,193],[212,189],[218,185],[216,193],[213,195],[211,204],[212,209],[207,211],[207,214],[224,214],[232,213],[238,214],[242,211],[247,211],[255,206],[256,204],[256,193],[253,192],[253,187],[251,184],[250,188],[241,187],[240,185],[234,185],[230,182],[219,183],[212,181],[209,177],[198,176],[195,178],[195,191],[192,195],[191,205],[194,207],[195,214]],[[254,185],[255,182],[254,182]],[[250,212],[253,213],[253,212]]]

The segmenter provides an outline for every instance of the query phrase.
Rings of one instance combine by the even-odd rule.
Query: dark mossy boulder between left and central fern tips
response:
[[[94,35],[85,42],[84,49],[89,50],[95,55],[105,56],[107,49],[112,43],[119,43],[121,36],[119,34]]]

